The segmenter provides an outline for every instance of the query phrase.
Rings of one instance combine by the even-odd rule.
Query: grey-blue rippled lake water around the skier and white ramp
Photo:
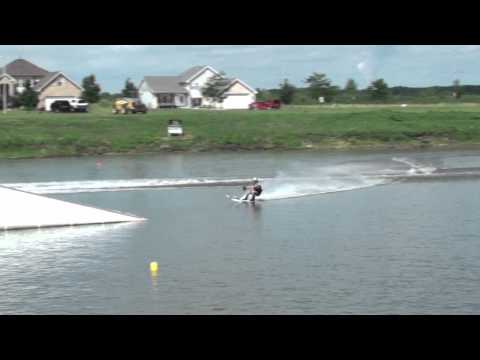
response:
[[[226,198],[254,176],[267,201]],[[0,232],[0,314],[480,313],[477,151],[3,160],[0,183],[148,219]]]

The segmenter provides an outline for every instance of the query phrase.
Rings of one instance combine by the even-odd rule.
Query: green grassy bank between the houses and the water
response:
[[[169,138],[167,122],[184,122]],[[0,157],[160,151],[413,148],[480,145],[480,105],[290,106],[279,111],[160,110],[113,115],[0,114]]]

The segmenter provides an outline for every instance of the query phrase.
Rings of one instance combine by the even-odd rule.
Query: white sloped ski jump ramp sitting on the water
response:
[[[145,220],[0,186],[0,231]]]

